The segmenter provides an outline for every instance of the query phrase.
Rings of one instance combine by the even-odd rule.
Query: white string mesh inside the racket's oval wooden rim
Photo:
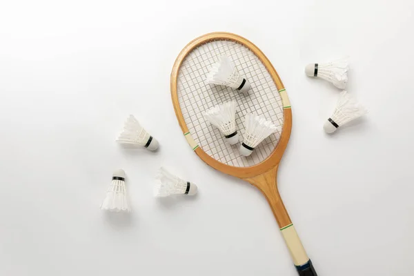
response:
[[[250,82],[249,95],[226,86],[210,85],[206,75],[219,57],[226,55],[237,70]],[[244,116],[247,112],[262,115],[276,126],[284,122],[282,99],[266,66],[246,46],[235,41],[215,40],[205,43],[184,59],[177,78],[177,95],[181,112],[193,139],[208,155],[223,164],[248,167],[264,161],[275,149],[280,132],[264,139],[253,153],[239,154],[240,144],[230,146],[221,132],[204,119],[204,112],[219,103],[237,102],[236,125],[239,141],[243,141]]]

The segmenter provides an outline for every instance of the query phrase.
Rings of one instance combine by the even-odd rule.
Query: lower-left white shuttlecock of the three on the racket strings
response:
[[[228,101],[210,108],[204,113],[204,118],[224,134],[228,144],[239,142],[239,134],[236,130],[236,102]]]

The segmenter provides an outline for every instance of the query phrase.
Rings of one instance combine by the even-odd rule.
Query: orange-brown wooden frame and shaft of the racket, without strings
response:
[[[204,34],[201,37],[197,37],[196,39],[188,43],[187,46],[183,50],[181,50],[177,59],[175,60],[175,63],[174,63],[174,66],[172,67],[172,72],[171,72],[170,88],[171,88],[172,104],[174,106],[175,115],[177,115],[179,126],[181,127],[183,134],[188,133],[188,128],[186,126],[186,121],[184,120],[183,114],[181,112],[181,108],[179,106],[179,99],[177,95],[177,77],[178,77],[181,63],[184,61],[188,53],[190,53],[192,50],[194,50],[198,46],[201,46],[204,43],[208,43],[209,41],[223,40],[223,39],[241,43],[242,45],[246,46],[246,48],[254,52],[255,55],[260,59],[260,61],[262,61],[264,66],[266,66],[268,72],[270,73],[270,76],[273,78],[273,81],[275,82],[277,86],[277,90],[278,91],[284,90],[284,85],[281,79],[279,78],[279,75],[277,75],[275,68],[273,68],[272,63],[270,63],[270,61],[267,59],[264,53],[261,50],[259,50],[259,48],[255,46],[255,44],[248,41],[244,37],[240,37],[237,34],[232,34],[229,32],[212,32],[209,34]],[[289,105],[288,107],[284,108],[284,124],[282,128],[282,135],[279,139],[277,146],[264,161],[262,161],[261,163],[255,166],[250,166],[250,167],[228,166],[226,164],[222,164],[221,162],[213,159],[213,157],[210,157],[210,155],[204,152],[202,148],[197,147],[195,149],[195,153],[201,158],[201,160],[206,162],[206,164],[208,164],[209,166],[215,168],[216,170],[224,172],[228,175],[233,175],[235,177],[238,177],[239,179],[244,179],[245,181],[248,181],[253,186],[257,187],[266,197],[268,204],[272,208],[273,215],[275,215],[277,224],[279,224],[279,228],[281,230],[284,230],[284,228],[288,228],[289,226],[292,226],[292,221],[290,221],[288,212],[286,211],[282,198],[279,195],[279,191],[277,189],[277,181],[276,181],[277,168],[279,167],[279,162],[282,159],[282,155],[288,144],[291,128],[292,128],[292,110],[290,109],[290,105]],[[299,260],[295,260],[298,258],[297,256],[295,256],[295,254],[297,253],[292,252],[292,249],[290,247],[291,246],[297,247],[297,245],[290,244],[289,239],[290,238],[285,237],[286,243],[288,245],[288,248],[290,249],[290,253],[294,259],[295,265],[296,266],[302,265],[302,263],[304,262],[304,259],[307,259],[306,260],[307,262],[308,257],[300,242],[299,242],[299,247],[302,246],[303,253],[298,253],[299,255],[302,254],[302,256],[299,257]],[[302,249],[299,249],[299,250],[302,250]]]

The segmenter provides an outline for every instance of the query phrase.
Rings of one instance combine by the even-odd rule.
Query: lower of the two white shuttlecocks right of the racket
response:
[[[348,123],[348,121],[353,121],[366,113],[368,113],[368,110],[344,90],[339,95],[333,115],[324,124],[324,130],[326,133],[335,132],[339,126]]]

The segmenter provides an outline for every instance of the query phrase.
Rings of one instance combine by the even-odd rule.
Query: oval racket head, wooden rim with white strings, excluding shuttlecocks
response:
[[[247,63],[250,66],[253,66],[253,71],[257,68],[262,69],[261,74],[264,75],[262,76],[264,77],[262,79],[255,78],[257,76],[252,76],[252,74],[250,74],[251,72],[244,72],[247,73],[246,78],[252,85],[250,95],[253,96],[246,97],[246,99],[244,99],[242,98],[244,97],[244,95],[237,94],[239,92],[233,91],[231,88],[219,86],[219,88],[215,89],[214,86],[211,86],[206,83],[206,72],[208,72],[211,64],[217,61],[217,57],[219,57],[219,55],[223,53],[221,52],[220,47],[224,48],[223,52],[225,55],[229,55],[231,52],[231,57],[233,57],[233,59],[236,59],[235,66],[237,70],[244,72],[240,62],[238,61],[239,58],[244,61],[246,61],[247,59]],[[233,48],[236,50],[233,51]],[[217,49],[219,51],[215,52],[215,50]],[[208,55],[209,50],[214,52],[213,55]],[[263,68],[265,68],[266,70],[263,70]],[[185,77],[184,75],[188,75],[190,77]],[[253,75],[255,75],[255,72],[253,72]],[[245,161],[245,159],[243,158],[249,160],[249,157],[241,157],[240,155],[238,155],[238,146],[232,147],[228,144],[225,144],[224,138],[221,137],[222,135],[221,133],[219,133],[219,130],[213,128],[213,126],[209,126],[208,122],[203,122],[203,119],[201,117],[202,113],[206,110],[206,108],[210,108],[212,107],[211,105],[222,103],[228,99],[236,100],[239,104],[240,101],[243,101],[242,104],[244,106],[244,110],[242,111],[251,110],[249,108],[253,107],[255,104],[255,101],[253,101],[255,99],[254,95],[263,95],[264,93],[263,90],[259,89],[263,88],[263,86],[261,85],[264,83],[265,85],[266,83],[268,84],[268,86],[266,86],[267,93],[271,93],[268,94],[269,97],[265,97],[265,99],[269,99],[270,97],[272,97],[272,95],[274,95],[276,101],[272,103],[273,106],[268,105],[268,107],[265,107],[264,109],[268,109],[268,111],[272,112],[271,109],[275,107],[274,110],[277,110],[277,112],[279,112],[275,113],[275,116],[271,116],[273,118],[266,119],[270,119],[275,123],[276,118],[279,122],[279,126],[281,126],[282,131],[277,132],[273,139],[271,137],[270,139],[268,139],[268,143],[266,144],[268,148],[266,148],[266,150],[264,148],[260,150],[261,156],[259,158],[255,158],[253,156],[251,157],[252,159],[250,159],[250,161]],[[255,84],[257,84],[257,86]],[[257,48],[257,46],[255,46],[253,43],[251,43],[247,39],[244,39],[244,37],[240,37],[237,34],[232,34],[229,32],[212,32],[209,34],[204,34],[201,37],[198,37],[197,39],[194,39],[193,41],[188,43],[183,50],[181,50],[179,56],[177,57],[174,63],[171,72],[170,89],[172,104],[175,109],[175,115],[177,116],[177,119],[179,121],[179,126],[181,127],[181,130],[183,131],[183,134],[186,137],[188,144],[190,144],[190,147],[193,148],[195,153],[206,164],[228,175],[233,175],[235,177],[239,177],[242,179],[262,175],[264,174],[264,172],[267,172],[268,170],[277,168],[279,161],[282,159],[282,155],[284,153],[284,150],[288,144],[288,140],[290,137],[290,130],[292,128],[292,112],[290,108],[290,102],[286,94],[286,90],[284,89],[283,83],[279,78],[279,75],[277,74],[273,65],[264,55],[264,53],[261,50],[259,50],[259,48]],[[221,96],[213,97],[213,95],[217,95],[215,94],[217,92],[221,92]],[[197,115],[194,115],[193,106],[191,106],[191,103],[186,103],[188,101],[186,101],[185,99],[188,99],[188,97],[194,97],[197,99],[200,98],[201,100],[210,99],[212,101],[209,102],[210,106],[204,106],[204,103],[201,105],[198,104],[198,106],[196,107],[198,108]],[[269,100],[273,101],[273,98]],[[201,102],[204,101],[199,101],[199,103]],[[274,112],[272,112],[272,114],[273,113]],[[239,123],[237,124],[239,130],[240,128],[243,129],[244,124],[242,123],[244,121],[244,115],[245,114],[239,115]],[[280,119],[280,117],[277,117],[277,115],[283,115],[282,120]],[[203,123],[207,125],[207,127],[204,127],[203,130],[193,131],[193,134],[194,132],[197,132],[195,133],[194,138],[192,133],[190,133],[188,127],[188,125],[190,125],[190,128],[192,128],[193,130],[197,128],[197,126],[194,126],[191,122],[192,117],[197,117],[197,123],[199,125],[202,125]],[[214,132],[214,134],[208,135],[209,132]],[[201,145],[199,140],[202,141]],[[228,161],[228,159],[215,159],[215,156],[217,155],[214,155],[214,152],[211,152],[212,150],[210,146],[207,145],[210,143],[215,144],[216,147],[219,147],[219,150],[223,149],[224,147],[225,152],[227,152],[230,155],[236,156],[235,159],[232,159],[230,162]],[[217,144],[219,144],[219,146],[217,146]],[[273,148],[269,150],[269,147]],[[204,151],[204,148],[208,148],[208,153]]]

